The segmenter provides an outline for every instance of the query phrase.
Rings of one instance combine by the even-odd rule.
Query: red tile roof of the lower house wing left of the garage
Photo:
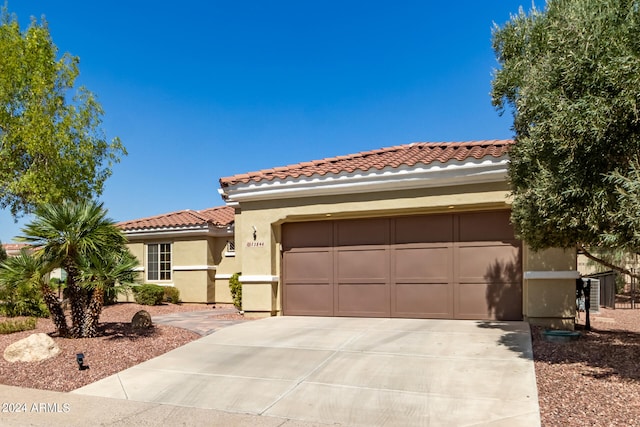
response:
[[[235,211],[228,206],[192,211],[190,209],[170,212],[147,218],[123,221],[117,224],[123,230],[144,230],[153,228],[188,227],[212,224],[224,227],[233,223]]]

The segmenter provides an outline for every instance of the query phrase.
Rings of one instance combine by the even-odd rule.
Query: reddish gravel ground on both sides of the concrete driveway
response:
[[[215,309],[202,304],[156,307],[133,303],[105,307],[100,317],[103,336],[93,339],[54,337],[62,352],[34,363],[8,363],[0,358],[0,383],[43,390],[70,391],[120,372],[200,338],[194,332],[155,325],[136,333],[129,322],[138,310],[153,316],[179,311]],[[221,318],[241,318],[222,315]],[[542,425],[640,426],[640,310],[601,309],[579,340],[547,342],[542,329],[532,327],[534,364]],[[0,335],[0,351],[32,333],[52,333],[48,319],[36,330]],[[79,371],[76,353],[84,353],[89,369]]]

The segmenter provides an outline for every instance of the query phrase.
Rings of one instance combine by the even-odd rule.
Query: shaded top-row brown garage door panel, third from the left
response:
[[[429,215],[397,218],[395,243],[434,243],[453,241],[453,215]]]

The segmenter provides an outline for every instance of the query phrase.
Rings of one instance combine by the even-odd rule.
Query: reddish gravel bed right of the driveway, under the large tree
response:
[[[532,327],[543,426],[640,426],[640,310],[601,308],[568,343]]]

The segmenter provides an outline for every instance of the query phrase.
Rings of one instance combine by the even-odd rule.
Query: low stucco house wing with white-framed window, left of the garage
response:
[[[232,302],[229,278],[239,271],[233,208],[187,209],[117,225],[140,261],[143,282],[175,286],[184,302]]]

